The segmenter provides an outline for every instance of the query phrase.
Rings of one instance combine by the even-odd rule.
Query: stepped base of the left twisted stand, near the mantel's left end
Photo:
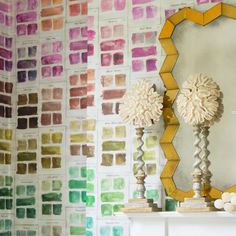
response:
[[[156,203],[153,203],[152,199],[129,199],[129,202],[125,204],[124,208],[121,208],[121,212],[124,213],[136,213],[136,212],[157,212],[161,211],[161,208],[157,207]]]

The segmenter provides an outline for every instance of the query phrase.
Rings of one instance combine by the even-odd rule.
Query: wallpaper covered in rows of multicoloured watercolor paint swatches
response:
[[[129,235],[117,213],[135,196],[137,153],[120,99],[142,78],[163,91],[166,17],[216,2],[0,0],[0,236]],[[144,136],[159,205],[162,126]]]

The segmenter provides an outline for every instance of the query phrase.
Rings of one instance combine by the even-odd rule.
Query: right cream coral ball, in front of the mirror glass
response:
[[[178,112],[190,125],[212,124],[221,113],[221,95],[219,86],[212,78],[203,74],[192,75],[183,83],[177,98]]]

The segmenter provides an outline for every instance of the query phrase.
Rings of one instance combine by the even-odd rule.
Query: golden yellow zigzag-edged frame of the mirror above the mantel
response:
[[[165,130],[161,137],[160,145],[167,159],[167,163],[161,174],[161,181],[168,196],[178,201],[183,201],[186,197],[192,197],[193,191],[182,191],[178,189],[173,180],[180,158],[172,141],[175,138],[180,124],[172,107],[178,94],[179,87],[172,74],[172,70],[178,59],[178,51],[171,37],[175,27],[184,20],[189,20],[195,24],[205,26],[220,16],[236,20],[236,7],[225,3],[219,3],[204,13],[198,12],[192,8],[183,8],[166,20],[159,35],[159,41],[166,53],[165,60],[160,69],[160,76],[166,88],[163,107]],[[236,185],[225,189],[224,191],[236,192]],[[209,197],[216,199],[220,198],[221,194],[222,192],[219,189],[211,186]]]

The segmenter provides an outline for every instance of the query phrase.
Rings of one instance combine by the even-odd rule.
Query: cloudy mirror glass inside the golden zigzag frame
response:
[[[179,24],[172,36],[179,52],[173,70],[179,87],[191,74],[212,77],[224,94],[224,114],[210,128],[212,185],[224,190],[236,184],[236,20],[220,17],[207,26],[190,21]],[[177,188],[192,188],[193,132],[173,105],[180,127],[173,140],[180,163],[174,175]]]

